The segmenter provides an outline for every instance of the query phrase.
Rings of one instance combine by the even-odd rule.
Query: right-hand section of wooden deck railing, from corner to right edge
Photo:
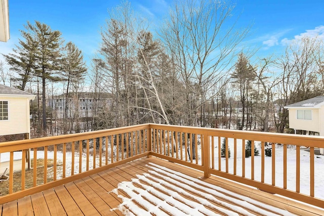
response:
[[[315,159],[318,164],[323,164],[320,160],[324,160],[324,156],[314,154],[315,148],[324,148],[323,137],[158,124],[150,124],[150,128],[151,154],[154,156],[202,170],[206,178],[216,175],[269,193],[324,206],[323,195],[315,191],[315,183],[321,187],[324,182],[323,170],[315,169]],[[252,149],[248,158],[247,141],[251,141]],[[259,149],[258,156],[253,150],[255,146]],[[271,149],[268,150],[271,157],[265,155],[267,148]],[[294,181],[288,181],[292,179]]]

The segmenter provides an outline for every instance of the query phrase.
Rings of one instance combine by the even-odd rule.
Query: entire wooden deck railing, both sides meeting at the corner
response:
[[[252,151],[246,158],[248,140]],[[259,155],[255,155],[254,147]],[[265,155],[267,148],[271,157]],[[10,154],[10,176],[9,195],[0,197],[0,203],[144,156],[156,156],[204,171],[206,178],[216,175],[322,207],[323,195],[315,188],[324,182],[324,175],[315,167],[324,156],[316,158],[315,148],[324,148],[324,138],[161,124],[1,143],[0,153]],[[26,164],[21,163],[20,188],[14,189],[14,154],[19,151],[24,161],[29,149],[36,158],[31,164],[32,184],[27,189]],[[39,167],[37,159],[44,160],[44,165]]]

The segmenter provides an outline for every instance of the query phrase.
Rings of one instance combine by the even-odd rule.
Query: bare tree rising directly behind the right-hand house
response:
[[[281,71],[277,85],[279,104],[278,118],[275,118],[277,132],[284,133],[288,127],[288,110],[284,106],[306,100],[322,93],[318,90],[315,73],[320,71],[318,62],[322,41],[318,38],[302,37],[288,45],[286,52],[276,61]]]

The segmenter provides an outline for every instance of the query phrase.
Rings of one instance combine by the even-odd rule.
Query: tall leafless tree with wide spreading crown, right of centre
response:
[[[198,125],[200,107],[213,97],[207,93],[228,74],[235,48],[248,33],[235,30],[233,8],[219,1],[178,1],[161,30],[186,89],[185,124]]]

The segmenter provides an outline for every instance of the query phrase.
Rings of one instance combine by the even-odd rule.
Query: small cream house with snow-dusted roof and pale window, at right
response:
[[[318,132],[324,136],[324,96],[285,106],[289,110],[289,127]],[[320,154],[324,154],[320,149]]]

